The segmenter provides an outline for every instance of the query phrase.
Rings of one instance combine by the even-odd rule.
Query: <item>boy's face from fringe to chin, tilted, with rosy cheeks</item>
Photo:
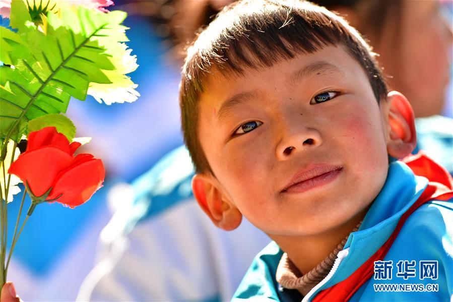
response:
[[[215,74],[199,106],[222,200],[268,234],[340,226],[385,182],[389,109],[341,46],[228,80]]]

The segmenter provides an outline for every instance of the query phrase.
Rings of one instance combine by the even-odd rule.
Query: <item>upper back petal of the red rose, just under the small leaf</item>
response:
[[[64,134],[58,133],[55,127],[45,127],[28,135],[27,151],[43,146],[55,146],[68,154],[71,153],[69,140]]]

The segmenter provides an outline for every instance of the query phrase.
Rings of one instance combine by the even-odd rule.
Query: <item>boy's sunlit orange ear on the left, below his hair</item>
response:
[[[192,178],[192,192],[217,227],[229,231],[241,224],[241,212],[225,194],[217,178],[211,174],[195,174]]]

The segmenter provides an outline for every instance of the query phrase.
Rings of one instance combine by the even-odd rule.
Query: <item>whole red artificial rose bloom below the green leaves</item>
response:
[[[104,182],[102,161],[91,154],[73,156],[80,143],[69,143],[55,127],[31,132],[27,150],[13,162],[9,173],[27,182],[34,196],[52,188],[47,200],[74,208],[85,203]]]

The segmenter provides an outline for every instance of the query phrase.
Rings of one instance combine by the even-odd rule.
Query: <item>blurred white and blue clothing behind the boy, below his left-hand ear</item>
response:
[[[226,232],[191,192],[185,147],[167,154],[131,186],[100,236],[98,264],[78,300],[225,301],[269,237],[247,220]],[[131,202],[123,196],[132,194]]]

